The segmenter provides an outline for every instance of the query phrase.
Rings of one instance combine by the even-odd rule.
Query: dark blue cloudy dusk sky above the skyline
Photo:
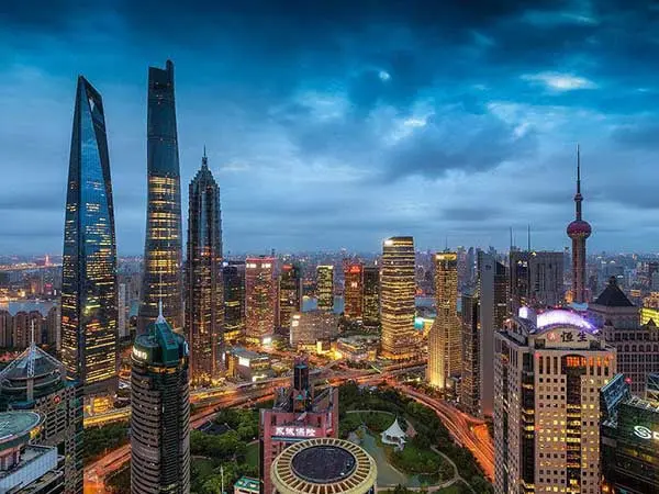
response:
[[[578,142],[591,248],[659,240],[654,2],[12,3],[0,252],[62,249],[78,74],[104,100],[119,251],[142,251],[147,67],[168,57],[181,186],[205,144],[228,250],[503,248],[528,223],[561,248]]]

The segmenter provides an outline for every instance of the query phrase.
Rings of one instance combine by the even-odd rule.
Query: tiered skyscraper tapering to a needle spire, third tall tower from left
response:
[[[222,369],[224,284],[220,188],[205,149],[189,189],[186,277],[190,378],[194,384],[209,384],[220,378]]]

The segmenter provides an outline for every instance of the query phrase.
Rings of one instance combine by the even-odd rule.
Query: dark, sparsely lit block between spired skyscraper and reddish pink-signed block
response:
[[[245,336],[245,261],[231,260],[222,268],[224,281],[224,341]]]

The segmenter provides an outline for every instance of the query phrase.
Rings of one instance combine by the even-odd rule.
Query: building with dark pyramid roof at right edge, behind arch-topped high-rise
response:
[[[625,374],[632,393],[645,396],[648,375],[659,372],[659,329],[654,322],[640,324],[640,307],[629,301],[615,277],[588,308],[617,351],[617,372]]]

